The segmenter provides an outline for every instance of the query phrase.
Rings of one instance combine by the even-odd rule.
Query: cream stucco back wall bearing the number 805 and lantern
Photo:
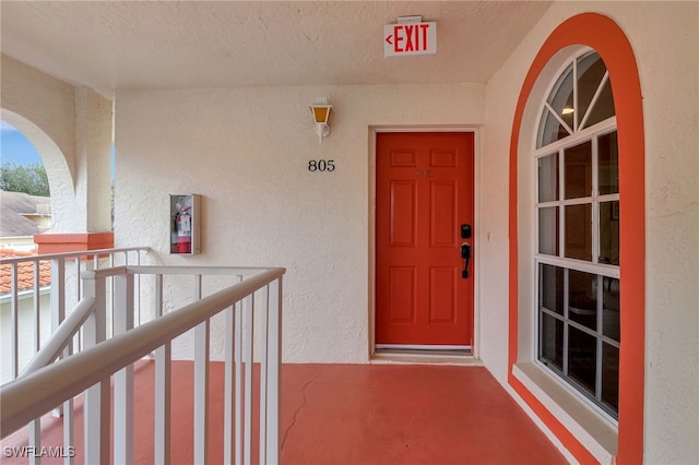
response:
[[[119,91],[117,247],[167,264],[277,265],[284,360],[367,362],[369,127],[478,124],[482,85]],[[308,105],[327,96],[319,145]],[[333,172],[309,172],[310,159]],[[170,193],[199,193],[202,253],[168,254]],[[217,344],[215,341],[214,345]]]

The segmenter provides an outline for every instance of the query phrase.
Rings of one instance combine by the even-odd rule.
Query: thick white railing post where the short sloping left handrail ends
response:
[[[95,312],[87,318],[84,326],[84,348],[90,349],[106,338],[106,283],[96,278],[95,272],[86,273],[83,286],[85,297],[96,299]],[[105,379],[85,391],[85,463],[109,463],[110,393],[109,379]]]

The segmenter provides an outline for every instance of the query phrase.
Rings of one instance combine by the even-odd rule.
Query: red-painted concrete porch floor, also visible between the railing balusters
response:
[[[153,463],[153,368],[135,369],[134,462]],[[173,362],[171,460],[192,463],[193,363]],[[187,398],[187,402],[177,400]],[[223,462],[223,363],[210,368],[210,463]],[[82,464],[76,402],[75,463]],[[564,456],[483,367],[284,365],[282,462],[291,464],[562,464]],[[43,420],[43,445],[61,444],[60,419]],[[5,446],[25,445],[17,433]],[[257,450],[252,453],[253,463]],[[43,458],[44,464],[60,463]]]

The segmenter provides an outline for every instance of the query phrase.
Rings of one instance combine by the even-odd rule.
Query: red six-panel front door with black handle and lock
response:
[[[473,133],[378,133],[376,344],[473,342]]]

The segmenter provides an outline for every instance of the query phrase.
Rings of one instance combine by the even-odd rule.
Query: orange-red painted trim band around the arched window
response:
[[[645,215],[643,105],[633,50],[611,19],[583,13],[561,23],[546,39],[524,79],[510,139],[509,199],[509,370],[508,383],[580,463],[594,456],[512,374],[518,360],[518,147],[524,108],[548,61],[562,48],[585,45],[600,53],[609,72],[619,144],[620,311],[619,421],[617,464],[643,461],[645,332]],[[524,134],[529,138],[531,134]]]

